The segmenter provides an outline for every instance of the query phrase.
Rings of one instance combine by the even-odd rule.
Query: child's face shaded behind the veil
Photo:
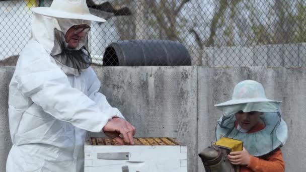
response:
[[[241,128],[245,130],[250,130],[258,123],[259,116],[261,114],[262,112],[256,112],[256,111],[252,112],[239,111],[235,114],[235,117]]]

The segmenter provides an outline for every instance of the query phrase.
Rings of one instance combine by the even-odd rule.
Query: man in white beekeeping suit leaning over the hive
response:
[[[91,15],[85,0],[54,0],[32,11],[32,39],[10,83],[7,172],[83,171],[86,131],[134,144],[135,128],[98,92],[90,67],[90,21],[105,20]]]

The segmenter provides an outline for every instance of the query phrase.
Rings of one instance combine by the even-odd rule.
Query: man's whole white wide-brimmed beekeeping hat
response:
[[[86,0],[54,0],[50,7],[36,7],[31,10],[54,18],[106,22],[105,19],[90,14]]]

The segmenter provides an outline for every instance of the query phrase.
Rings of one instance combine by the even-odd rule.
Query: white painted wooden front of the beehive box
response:
[[[98,153],[129,152],[128,160],[98,159]],[[187,147],[181,145],[85,145],[85,172],[187,172]]]

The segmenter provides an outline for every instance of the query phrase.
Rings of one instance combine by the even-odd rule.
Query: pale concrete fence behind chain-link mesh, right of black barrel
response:
[[[209,67],[239,67],[239,66],[267,66],[267,67],[300,67],[305,66],[306,44],[275,44],[250,47],[205,47],[202,62],[196,65]]]

